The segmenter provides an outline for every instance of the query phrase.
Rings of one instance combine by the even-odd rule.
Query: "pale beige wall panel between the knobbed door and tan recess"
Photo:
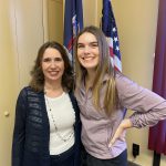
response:
[[[15,48],[19,68],[20,87],[30,81],[30,71],[34,65],[38,49],[44,42],[43,2],[41,0],[17,0]],[[12,28],[11,28],[12,29]]]

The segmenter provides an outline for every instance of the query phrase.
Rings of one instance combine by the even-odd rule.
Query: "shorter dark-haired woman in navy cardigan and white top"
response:
[[[79,166],[80,117],[64,48],[44,43],[18,97],[12,166]]]

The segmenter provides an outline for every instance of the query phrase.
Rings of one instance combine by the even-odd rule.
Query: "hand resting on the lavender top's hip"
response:
[[[111,147],[117,138],[120,139],[125,139],[125,133],[126,133],[126,129],[127,128],[131,128],[133,125],[132,125],[132,122],[129,118],[125,118],[121,122],[121,124],[118,125],[113,138],[111,139],[110,144],[108,144],[108,147]]]

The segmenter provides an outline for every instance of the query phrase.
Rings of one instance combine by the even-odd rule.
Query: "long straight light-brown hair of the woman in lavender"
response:
[[[100,61],[96,68],[96,75],[95,75],[93,87],[92,87],[92,98],[94,102],[94,106],[96,107],[96,110],[100,111],[101,108],[100,92],[101,92],[101,87],[103,84],[103,79],[105,74],[107,74],[108,80],[106,81],[106,91],[105,91],[105,96],[104,96],[104,110],[105,110],[106,115],[111,116],[111,114],[116,110],[117,102],[118,102],[117,91],[116,91],[116,85],[115,85],[115,71],[111,63],[110,50],[108,50],[106,38],[98,28],[93,27],[93,25],[84,28],[75,39],[75,46],[74,46],[75,82],[76,82],[75,91],[79,92],[83,77],[86,75],[86,70],[80,64],[77,60],[77,40],[80,35],[82,35],[85,32],[92,33],[96,38],[98,42],[98,50],[100,50]]]

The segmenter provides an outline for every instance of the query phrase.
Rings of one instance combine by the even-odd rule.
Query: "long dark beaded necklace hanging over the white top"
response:
[[[53,122],[54,129],[55,129],[55,133],[56,133],[58,137],[59,137],[61,141],[63,141],[63,142],[70,141],[70,138],[71,138],[71,137],[73,136],[73,134],[74,134],[73,129],[71,129],[66,135],[63,135],[63,136],[62,136],[62,135],[60,134],[59,128],[58,128],[58,125],[56,125],[56,122],[55,122],[55,120],[54,120],[54,117],[53,117],[53,114],[52,114],[51,104],[50,104],[49,98],[48,98],[46,95],[45,95],[45,101],[46,101],[48,108],[49,108],[49,113],[50,113],[50,115],[51,115],[51,120],[52,120],[52,122]]]

